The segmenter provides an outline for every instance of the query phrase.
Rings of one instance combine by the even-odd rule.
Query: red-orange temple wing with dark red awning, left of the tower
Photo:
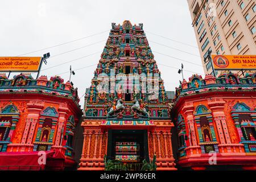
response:
[[[0,168],[73,167],[75,127],[82,111],[77,89],[59,77],[0,75]],[[39,154],[40,151],[40,154]],[[40,155],[46,163],[39,162]]]

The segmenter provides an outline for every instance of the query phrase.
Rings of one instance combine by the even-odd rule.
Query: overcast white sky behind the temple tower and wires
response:
[[[184,69],[204,73],[203,68],[198,65],[164,56],[170,55],[201,65],[199,51],[195,48],[197,47],[196,38],[191,26],[192,20],[186,0],[1,0],[0,56],[23,55],[24,53],[108,31],[76,42],[64,44],[63,46],[23,55],[43,56],[44,53],[50,52],[52,58],[48,59],[47,65],[43,65],[42,70],[44,70],[98,52],[92,56],[59,65],[40,73],[40,75],[47,75],[48,78],[53,75],[60,75],[67,81],[69,79],[69,73],[60,73],[68,72],[70,65],[72,65],[73,69],[93,65],[75,71],[76,75],[71,79],[74,86],[79,88],[79,96],[81,97],[85,89],[90,86],[96,64],[100,60],[101,52],[105,46],[106,39],[108,39],[111,23],[122,24],[123,20],[130,20],[132,24],[143,23],[144,31],[148,31],[146,32],[146,36],[155,55],[159,70],[162,72],[166,90],[174,90],[176,86],[179,86],[179,80],[182,79],[181,75],[177,73],[177,69],[161,64],[179,68],[180,64],[183,63]],[[195,47],[160,38],[149,32]],[[100,42],[102,40],[104,42]],[[71,51],[90,44],[93,45]],[[159,44],[182,49],[194,55],[176,51]],[[64,53],[67,51],[71,52]],[[164,55],[156,52],[163,53]],[[186,80],[191,75],[191,72],[184,71],[184,78]],[[13,76],[14,74],[11,75],[11,77]],[[33,76],[36,77],[36,74],[34,73]],[[81,98],[81,105],[84,104],[83,100],[84,98]]]

